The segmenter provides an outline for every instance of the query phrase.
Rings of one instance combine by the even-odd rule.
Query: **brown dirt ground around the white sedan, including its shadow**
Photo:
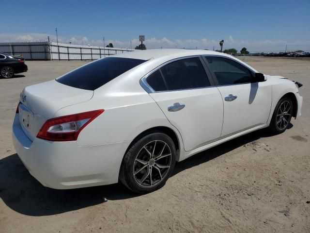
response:
[[[86,62],[28,61],[29,72],[0,79],[0,233],[309,233],[310,59],[241,59],[303,83],[302,116],[280,135],[257,131],[177,163],[166,185],[147,195],[121,184],[53,190],[18,159],[11,125],[19,93]]]

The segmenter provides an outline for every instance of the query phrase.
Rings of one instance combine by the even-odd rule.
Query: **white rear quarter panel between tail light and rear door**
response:
[[[157,126],[169,127],[178,133],[142,87],[138,92],[110,89],[96,93],[92,100],[65,107],[56,116],[96,109],[105,111],[81,131],[78,146],[131,141],[143,131]]]

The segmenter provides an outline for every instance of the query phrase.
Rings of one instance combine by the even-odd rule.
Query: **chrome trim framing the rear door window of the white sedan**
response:
[[[186,88],[186,89],[178,89],[178,90],[166,90],[166,91],[155,91],[150,85],[149,83],[146,82],[146,79],[153,74],[154,72],[156,72],[157,70],[159,70],[161,67],[164,67],[172,62],[176,62],[179,60],[184,60],[184,59],[188,59],[188,58],[201,58],[204,55],[192,55],[192,56],[185,56],[185,57],[178,57],[178,58],[174,58],[170,61],[167,61],[163,64],[161,64],[160,66],[154,68],[153,70],[151,70],[150,72],[148,72],[143,78],[140,79],[140,85],[142,86],[142,88],[147,92],[147,93],[159,93],[159,92],[171,92],[171,91],[185,91],[185,90],[195,90],[195,89],[204,89],[204,88],[210,88],[210,87],[215,87],[215,85],[210,85],[210,86],[205,86],[205,87],[196,87],[196,88]],[[202,63],[202,61],[200,61]],[[202,64],[203,67],[203,64]],[[204,68],[204,67],[203,67]],[[206,78],[209,80],[208,74],[206,73]],[[211,83],[210,83],[211,84]]]

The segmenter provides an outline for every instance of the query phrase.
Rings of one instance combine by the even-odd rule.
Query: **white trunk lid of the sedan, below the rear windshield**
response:
[[[43,124],[66,106],[92,99],[93,91],[78,89],[55,80],[26,87],[20,94],[19,121],[33,141]]]

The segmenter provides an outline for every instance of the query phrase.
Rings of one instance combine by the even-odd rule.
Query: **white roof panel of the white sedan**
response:
[[[230,56],[222,52],[216,52],[212,50],[185,50],[185,49],[155,49],[155,50],[135,50],[133,52],[125,52],[113,55],[114,57],[133,58],[141,60],[151,60],[156,58],[163,58],[169,56],[175,57],[186,57],[194,55],[221,55]]]

